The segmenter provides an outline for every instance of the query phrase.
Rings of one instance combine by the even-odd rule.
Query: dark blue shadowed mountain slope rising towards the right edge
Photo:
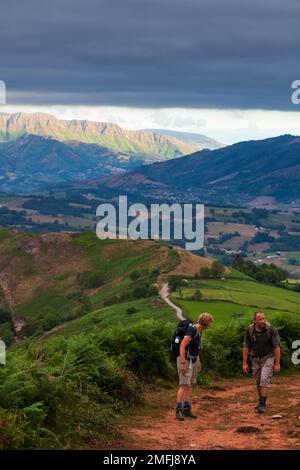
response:
[[[213,203],[238,204],[258,196],[279,201],[300,199],[300,137],[239,142],[202,150],[184,159],[142,166],[106,178],[106,187],[143,194],[183,196]]]

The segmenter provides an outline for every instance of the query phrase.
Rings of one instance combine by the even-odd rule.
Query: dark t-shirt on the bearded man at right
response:
[[[257,331],[254,328],[253,335],[250,335],[249,328],[245,334],[244,347],[250,350],[251,356],[272,356],[275,346],[280,345],[280,338],[276,328],[273,325],[270,325],[269,328],[265,326],[261,331]],[[253,336],[253,340],[251,336]]]

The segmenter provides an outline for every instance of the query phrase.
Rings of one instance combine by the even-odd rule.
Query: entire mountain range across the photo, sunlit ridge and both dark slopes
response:
[[[259,196],[300,200],[298,136],[194,152],[201,140],[197,135],[159,132],[172,135],[42,113],[2,113],[0,190],[30,194],[65,183],[74,189],[79,182],[81,188],[84,183],[135,199],[143,195],[221,205],[244,204]]]

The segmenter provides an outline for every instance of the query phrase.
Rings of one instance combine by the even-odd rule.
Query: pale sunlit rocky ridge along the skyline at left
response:
[[[145,161],[180,157],[197,150],[173,136],[126,130],[107,122],[63,120],[46,113],[0,113],[0,141],[10,142],[24,134],[97,144],[114,152],[139,155]]]

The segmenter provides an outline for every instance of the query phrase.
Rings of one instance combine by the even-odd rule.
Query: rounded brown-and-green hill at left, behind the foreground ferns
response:
[[[0,309],[23,325],[19,335],[42,334],[101,306],[150,298],[157,276],[178,262],[172,247],[152,241],[1,229]]]

